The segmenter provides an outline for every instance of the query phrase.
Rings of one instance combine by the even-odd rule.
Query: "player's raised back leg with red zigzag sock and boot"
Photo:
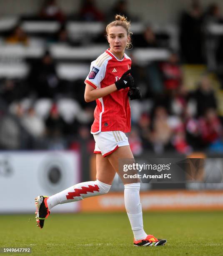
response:
[[[35,215],[37,226],[43,228],[44,220],[50,215],[50,210],[58,204],[75,202],[83,200],[85,197],[108,193],[115,176],[115,171],[108,159],[103,158],[101,154],[96,155],[96,172],[95,181],[78,183],[50,197],[36,197],[37,210]]]

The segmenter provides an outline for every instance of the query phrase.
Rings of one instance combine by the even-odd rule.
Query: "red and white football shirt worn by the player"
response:
[[[131,67],[131,59],[124,54],[123,59],[117,59],[109,49],[91,62],[90,73],[85,83],[95,89],[114,84]],[[129,88],[121,89],[96,100],[94,123],[91,133],[101,131],[130,132],[130,105],[128,100]]]

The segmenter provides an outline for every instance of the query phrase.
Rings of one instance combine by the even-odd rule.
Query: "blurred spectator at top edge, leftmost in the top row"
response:
[[[56,3],[56,0],[45,0],[40,10],[40,17],[47,20],[58,20],[60,22],[65,20],[65,15]]]

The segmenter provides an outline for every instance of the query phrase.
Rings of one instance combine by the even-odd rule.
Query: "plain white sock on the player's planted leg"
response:
[[[147,234],[143,229],[143,212],[140,203],[140,183],[133,183],[125,185],[125,209],[133,230],[136,241],[145,239]]]

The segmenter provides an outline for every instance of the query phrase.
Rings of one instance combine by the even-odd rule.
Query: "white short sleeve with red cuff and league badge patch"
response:
[[[88,84],[93,86],[95,89],[100,88],[100,82],[105,77],[105,71],[106,71],[105,64],[101,65],[101,67],[98,67],[97,65],[95,65],[95,61],[92,61],[90,65],[90,72],[85,79],[85,83],[87,82]]]

